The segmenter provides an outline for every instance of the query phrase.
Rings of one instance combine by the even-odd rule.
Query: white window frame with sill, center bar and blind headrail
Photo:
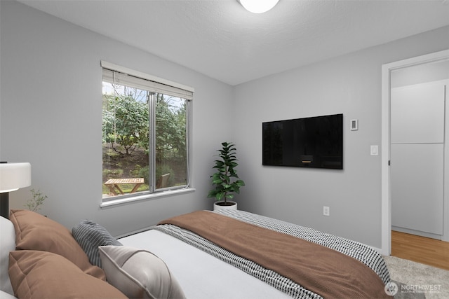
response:
[[[159,197],[166,197],[170,195],[177,195],[180,193],[189,193],[193,192],[194,188],[190,186],[190,145],[189,145],[189,137],[191,135],[190,128],[191,125],[191,108],[194,88],[189,87],[187,85],[182,85],[180,83],[175,83],[173,81],[168,81],[163,78],[159,78],[156,76],[152,76],[149,74],[142,73],[140,71],[135,71],[133,69],[128,69],[126,67],[121,67],[117,64],[112,64],[110,62],[105,62],[104,60],[100,63],[102,67],[102,78],[105,81],[114,82],[119,85],[127,85],[133,88],[140,88],[142,90],[149,90],[150,92],[159,92],[164,95],[172,95],[175,97],[180,97],[187,100],[187,136],[186,136],[186,146],[187,146],[187,183],[185,186],[176,186],[173,188],[163,188],[161,190],[155,190],[154,183],[154,159],[150,162],[150,185],[153,186],[153,190],[150,187],[150,190],[145,193],[135,193],[130,195],[119,195],[116,197],[112,197],[110,199],[102,199],[102,203],[100,207],[112,207],[118,204],[130,204],[132,202],[138,202],[141,200],[151,200]],[[151,109],[150,109],[151,111]],[[154,127],[154,113],[150,112],[150,122],[153,123]],[[153,134],[150,132],[150,146],[154,145],[154,132]]]

